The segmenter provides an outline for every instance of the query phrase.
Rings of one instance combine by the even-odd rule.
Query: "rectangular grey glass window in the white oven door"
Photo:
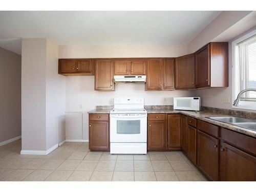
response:
[[[140,120],[117,120],[117,134],[140,134]]]

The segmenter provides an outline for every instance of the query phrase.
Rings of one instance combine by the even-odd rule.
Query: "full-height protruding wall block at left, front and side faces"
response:
[[[58,144],[58,121],[65,114],[65,86],[65,78],[58,74],[58,46],[46,38],[23,39],[23,151],[47,151]]]

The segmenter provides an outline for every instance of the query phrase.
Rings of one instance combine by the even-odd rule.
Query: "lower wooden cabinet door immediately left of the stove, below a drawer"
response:
[[[109,121],[89,122],[90,150],[109,150]]]

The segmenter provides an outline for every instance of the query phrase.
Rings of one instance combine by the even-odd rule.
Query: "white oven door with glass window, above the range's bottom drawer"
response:
[[[110,114],[110,142],[146,142],[147,114]]]

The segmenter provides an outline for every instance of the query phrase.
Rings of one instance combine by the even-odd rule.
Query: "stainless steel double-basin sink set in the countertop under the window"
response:
[[[256,121],[240,118],[240,117],[206,117],[216,121],[233,124],[236,126],[243,127],[245,129],[256,131]]]

